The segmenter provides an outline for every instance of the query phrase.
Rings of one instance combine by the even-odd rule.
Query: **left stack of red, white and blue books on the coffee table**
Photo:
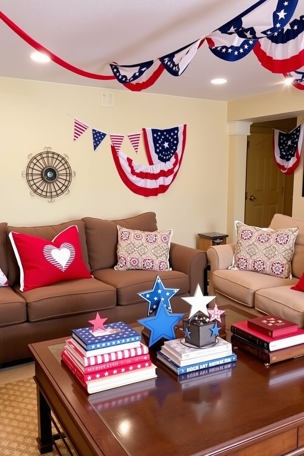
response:
[[[94,333],[92,326],[73,329],[61,358],[89,394],[156,377],[141,335],[123,321]]]

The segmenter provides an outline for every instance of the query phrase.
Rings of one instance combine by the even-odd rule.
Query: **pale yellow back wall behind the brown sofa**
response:
[[[114,107],[101,107],[101,88],[0,78],[1,222],[13,225],[59,223],[92,216],[122,218],[154,211],[160,229],[173,228],[173,241],[196,246],[196,234],[226,232],[227,103],[111,90]],[[132,193],[121,181],[109,135],[93,151],[92,131],[73,142],[74,118],[112,134],[167,128],[186,123],[180,171],[157,197]],[[70,193],[55,202],[31,196],[22,172],[30,154],[44,147],[67,154],[76,176]],[[143,141],[138,154],[128,138],[121,150],[147,164]]]

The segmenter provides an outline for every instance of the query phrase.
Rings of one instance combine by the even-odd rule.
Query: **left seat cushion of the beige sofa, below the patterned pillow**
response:
[[[214,289],[245,306],[254,307],[254,294],[261,288],[293,285],[297,279],[281,279],[253,271],[218,269],[212,274]],[[272,312],[274,313],[274,312]]]

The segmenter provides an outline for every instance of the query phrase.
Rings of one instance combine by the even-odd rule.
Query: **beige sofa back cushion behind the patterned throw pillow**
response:
[[[293,277],[301,277],[304,272],[304,221],[289,217],[283,214],[274,214],[269,228],[296,228],[299,232],[294,243],[294,256],[291,261],[291,272]]]

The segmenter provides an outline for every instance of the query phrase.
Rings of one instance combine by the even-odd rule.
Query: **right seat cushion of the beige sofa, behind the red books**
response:
[[[304,326],[303,293],[290,289],[290,285],[258,290],[255,308]]]

